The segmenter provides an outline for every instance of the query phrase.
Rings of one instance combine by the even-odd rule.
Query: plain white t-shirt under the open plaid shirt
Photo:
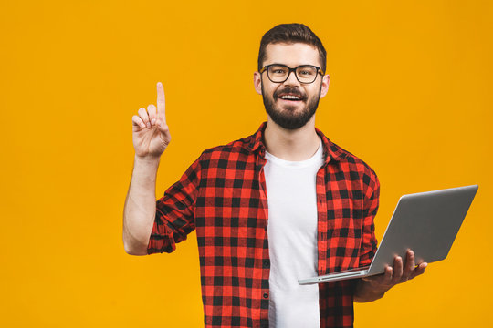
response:
[[[270,255],[270,327],[320,327],[319,285],[299,279],[317,275],[316,176],[320,146],[310,159],[278,159],[266,151],[267,236]]]

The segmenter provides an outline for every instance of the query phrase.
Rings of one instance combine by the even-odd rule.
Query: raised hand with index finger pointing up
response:
[[[164,115],[164,89],[161,82],[157,84],[157,111],[151,104],[147,110],[140,108],[138,114],[131,118],[135,155],[159,159],[171,141]]]

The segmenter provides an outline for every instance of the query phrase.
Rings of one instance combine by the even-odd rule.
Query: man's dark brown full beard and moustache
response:
[[[320,85],[321,90],[321,85]],[[315,97],[307,99],[306,96],[302,95],[298,88],[285,87],[281,90],[274,92],[272,97],[269,97],[262,85],[262,98],[264,100],[264,106],[266,107],[267,114],[272,120],[278,124],[281,128],[286,129],[298,129],[304,127],[308,123],[310,118],[315,115],[317,108],[319,107],[320,100],[320,90],[319,94]],[[302,102],[306,102],[305,108],[303,108],[299,113],[295,113],[295,106],[285,106],[284,108],[277,108],[276,102],[278,101],[278,94],[280,93],[291,93],[297,94],[302,98]]]

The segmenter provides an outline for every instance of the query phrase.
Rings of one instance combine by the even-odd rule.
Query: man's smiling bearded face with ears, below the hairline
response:
[[[269,64],[284,64],[291,68],[299,65],[321,67],[317,48],[300,43],[268,45],[263,65]],[[313,83],[305,84],[291,72],[286,81],[274,83],[264,71],[262,74],[254,73],[254,84],[264,99],[269,118],[281,128],[297,129],[305,126],[315,114],[320,97],[327,94],[329,76],[318,74]]]

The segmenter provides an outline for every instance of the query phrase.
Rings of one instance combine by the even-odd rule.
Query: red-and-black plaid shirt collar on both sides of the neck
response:
[[[262,158],[266,154],[266,146],[264,144],[264,132],[267,128],[267,122],[263,122],[253,135],[250,136],[249,142],[247,144],[247,149],[250,152],[259,152]],[[330,141],[329,138],[320,131],[320,129],[315,128],[315,131],[322,140],[323,153],[325,156],[325,164],[329,163],[330,160],[341,161],[346,157],[346,152],[342,150],[339,146]],[[328,155],[328,156],[327,156]]]

